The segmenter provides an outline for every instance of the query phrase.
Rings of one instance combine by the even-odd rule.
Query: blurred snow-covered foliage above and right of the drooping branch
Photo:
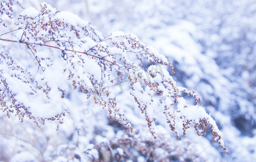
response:
[[[168,58],[175,67],[172,77],[199,93],[201,106],[215,118],[233,150],[228,158],[255,157],[249,144],[254,143],[256,119],[254,1],[88,2],[89,15],[73,12],[92,17],[105,34],[132,31]]]

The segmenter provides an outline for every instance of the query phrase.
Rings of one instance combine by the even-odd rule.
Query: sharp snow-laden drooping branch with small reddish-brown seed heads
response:
[[[2,5],[12,4],[2,1]],[[11,9],[4,11],[1,8],[2,16],[12,12]],[[0,40],[9,42],[10,48],[19,43],[23,49],[17,51],[30,53],[35,62],[29,66],[20,65],[20,60],[15,59],[17,52],[14,55],[6,48],[1,51],[1,110],[8,116],[15,112],[21,120],[27,116],[37,125],[44,124],[44,120],[62,123],[62,117],[68,112],[63,100],[71,85],[87,98],[93,98],[96,104],[108,110],[110,118],[118,120],[132,132],[132,125],[118,105],[116,94],[110,90],[116,78],[120,83],[126,78],[130,94],[144,114],[153,137],[157,120],[153,112],[163,111],[170,129],[177,136],[178,123],[182,123],[183,135],[194,126],[197,134],[204,136],[209,126],[214,142],[226,152],[215,121],[199,106],[200,98],[193,90],[177,86],[165,70],[168,67],[174,73],[167,58],[140,42],[136,36],[115,32],[103,38],[89,23],[46,3],[41,4],[40,11],[34,8],[23,10],[15,24],[17,30],[3,33]],[[9,33],[18,40],[10,39]],[[145,64],[150,66],[145,68]],[[33,73],[33,69],[37,72]],[[186,104],[183,94],[194,97],[197,104]],[[153,102],[158,103],[157,109]]]

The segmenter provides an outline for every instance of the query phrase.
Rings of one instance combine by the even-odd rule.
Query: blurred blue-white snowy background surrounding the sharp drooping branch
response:
[[[198,137],[194,130],[176,139],[163,119],[156,130],[163,139],[152,147],[156,154],[163,153],[160,143],[165,143],[172,150],[165,155],[170,161],[256,159],[255,1],[24,0],[23,5],[38,9],[42,2],[91,22],[104,37],[114,31],[134,33],[165,55],[174,65],[176,82],[202,98],[201,105],[216,120],[231,153],[227,155],[212,144],[212,136]],[[106,110],[71,90],[66,101],[71,113],[59,131],[54,122],[38,128],[30,120],[20,123],[0,113],[0,161],[93,161],[97,156],[112,161],[105,147],[91,148],[120,139],[153,141],[144,119],[130,104],[132,98],[124,92],[120,99],[135,134],[127,133],[125,127],[108,119]],[[148,160],[146,153],[136,149],[142,144],[130,146],[133,151],[125,150],[125,145],[117,147],[111,148],[116,151],[112,156],[126,154],[133,161]],[[146,143],[144,147],[151,148]],[[161,161],[161,157],[155,160]]]

